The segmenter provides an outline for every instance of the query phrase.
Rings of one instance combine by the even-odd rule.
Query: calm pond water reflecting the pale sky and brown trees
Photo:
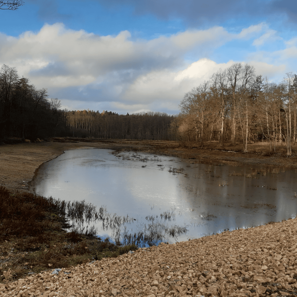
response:
[[[61,200],[84,199],[97,210],[106,206],[111,216],[128,215],[132,223],[122,225],[121,232],[138,232],[152,220],[159,228],[187,229],[174,237],[166,234],[163,241],[169,242],[296,217],[296,170],[190,164],[175,157],[112,152],[65,151],[40,166],[31,190]],[[164,212],[171,220],[160,217]],[[102,222],[95,227],[103,238],[116,232],[103,228]]]

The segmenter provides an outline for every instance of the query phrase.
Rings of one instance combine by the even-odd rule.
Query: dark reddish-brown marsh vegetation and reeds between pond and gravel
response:
[[[65,202],[32,193],[11,193],[0,187],[0,281],[25,277],[29,272],[70,267],[92,258],[117,257],[135,245],[120,247],[96,237],[93,226],[102,220],[105,227],[116,227],[132,218],[110,215],[85,201]],[[72,221],[72,225],[69,221]],[[76,224],[76,223],[77,224]],[[69,232],[66,232],[69,230]]]

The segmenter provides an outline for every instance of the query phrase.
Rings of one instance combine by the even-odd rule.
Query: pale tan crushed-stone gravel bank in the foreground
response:
[[[227,231],[45,271],[0,296],[296,296],[296,239],[297,219]]]

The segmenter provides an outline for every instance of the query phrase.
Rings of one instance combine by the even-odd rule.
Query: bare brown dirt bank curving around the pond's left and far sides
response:
[[[297,169],[297,157],[286,157],[285,146],[278,145],[274,154],[269,154],[267,143],[248,146],[249,152],[242,152],[242,145],[220,148],[218,143],[206,143],[204,149],[181,148],[174,141],[137,141],[137,140],[92,140],[77,138],[53,138],[50,142],[19,143],[0,145],[0,185],[9,190],[28,189],[28,182],[34,171],[43,163],[53,159],[65,150],[71,149],[136,149],[156,154],[169,154],[188,159],[192,163],[238,163],[267,165]],[[294,151],[294,149],[293,149]]]

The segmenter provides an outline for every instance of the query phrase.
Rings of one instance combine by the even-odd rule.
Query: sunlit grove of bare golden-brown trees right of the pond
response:
[[[180,116],[172,123],[187,146],[217,140],[221,147],[240,141],[244,151],[252,141],[285,142],[287,155],[297,140],[297,75],[287,73],[279,84],[255,75],[241,63],[220,69],[210,80],[184,95]]]

